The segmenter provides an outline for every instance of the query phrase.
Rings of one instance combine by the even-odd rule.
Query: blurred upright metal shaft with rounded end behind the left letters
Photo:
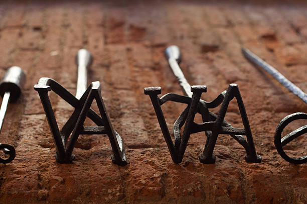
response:
[[[87,68],[92,63],[92,55],[87,49],[80,49],[76,55],[78,67],[78,80],[76,98],[80,99],[87,88]]]

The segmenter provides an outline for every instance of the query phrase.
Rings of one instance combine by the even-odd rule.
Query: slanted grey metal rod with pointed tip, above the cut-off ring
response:
[[[261,58],[259,58],[257,55],[255,55],[246,48],[242,48],[242,52],[247,59],[257,64],[258,66],[262,67],[274,78],[276,78],[282,85],[284,85],[287,89],[289,89],[300,99],[302,99],[305,103],[307,103],[307,93],[305,93],[299,87],[294,85],[291,81],[289,81],[286,77],[284,77],[284,75],[282,75],[279,71],[277,71],[273,66],[269,65],[268,63],[263,61]]]

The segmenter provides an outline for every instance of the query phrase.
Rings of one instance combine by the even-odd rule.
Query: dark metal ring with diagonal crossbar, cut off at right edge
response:
[[[295,139],[296,137],[304,134],[307,132],[307,125],[304,125],[302,127],[297,128],[296,130],[290,132],[289,134],[285,135],[283,138],[281,138],[281,133],[286,125],[288,125],[290,122],[297,120],[297,119],[307,119],[307,113],[304,112],[295,112],[293,114],[289,114],[286,117],[284,117],[279,124],[277,125],[275,135],[274,135],[274,144],[275,147],[279,153],[279,155],[285,159],[286,161],[290,163],[295,164],[301,164],[307,162],[307,155],[302,157],[290,157],[288,156],[284,150],[282,149],[282,146],[287,144],[289,141]]]

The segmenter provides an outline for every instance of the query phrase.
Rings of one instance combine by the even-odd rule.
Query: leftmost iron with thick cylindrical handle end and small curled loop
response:
[[[0,95],[3,97],[0,108],[0,132],[2,130],[3,122],[6,116],[6,111],[9,102],[16,102],[21,94],[21,89],[26,81],[26,75],[24,71],[18,66],[10,67],[5,73],[2,81],[0,82]],[[1,158],[0,163],[11,162],[16,155],[14,146],[11,144],[0,143],[0,149],[5,154],[8,154],[8,158]]]

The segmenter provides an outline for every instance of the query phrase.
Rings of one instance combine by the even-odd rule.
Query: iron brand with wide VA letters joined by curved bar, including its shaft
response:
[[[247,162],[261,162],[261,156],[256,154],[248,118],[237,84],[230,84],[227,91],[225,90],[220,93],[213,101],[207,102],[200,99],[202,93],[207,91],[207,86],[190,86],[185,78],[179,66],[179,63],[181,62],[180,49],[176,45],[169,46],[165,51],[165,56],[169,61],[170,67],[177,77],[179,84],[187,96],[176,93],[167,93],[160,98],[158,94],[161,94],[161,87],[146,87],[144,88],[144,93],[149,95],[152,105],[154,106],[161,130],[167,142],[173,161],[180,163],[183,160],[188,140],[192,133],[205,131],[207,140],[205,148],[202,154],[199,156],[200,162],[215,162],[213,150],[219,134],[230,134],[235,140],[237,140],[246,150],[245,160]],[[234,97],[238,102],[244,129],[234,128],[230,123],[224,120],[229,101]],[[174,123],[173,131],[175,143],[173,143],[163,111],[161,109],[161,105],[169,100],[187,104],[187,107],[183,110]],[[220,104],[221,108],[217,115],[209,111],[209,108],[217,107]],[[202,123],[194,122],[194,117],[197,112],[202,116]],[[185,126],[181,135],[180,130],[184,124]],[[245,139],[242,135],[246,135],[247,139]]]

